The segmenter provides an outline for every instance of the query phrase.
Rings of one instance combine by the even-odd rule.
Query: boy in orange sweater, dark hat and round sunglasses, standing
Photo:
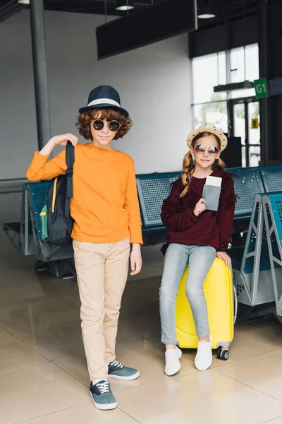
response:
[[[108,377],[132,380],[140,373],[116,360],[115,345],[121,297],[128,277],[142,266],[142,232],[135,169],[130,156],[111,143],[128,133],[132,122],[110,86],[91,91],[80,109],[78,129],[90,143],[78,143],[73,134],[50,139],[36,152],[27,170],[32,181],[66,172],[65,151],[47,159],[56,145],[75,147],[71,216],[75,268],[78,276],[82,336],[90,374],[90,393],[99,409],[116,408]]]

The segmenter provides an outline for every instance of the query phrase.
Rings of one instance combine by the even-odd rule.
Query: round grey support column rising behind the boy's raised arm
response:
[[[30,25],[35,81],[37,137],[38,148],[41,150],[51,138],[43,0],[30,0]]]

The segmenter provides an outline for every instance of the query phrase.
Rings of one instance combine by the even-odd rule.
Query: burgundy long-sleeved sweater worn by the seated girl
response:
[[[201,199],[205,178],[192,177],[190,188],[182,198],[181,179],[172,184],[171,194],[164,200],[161,220],[168,229],[168,243],[180,245],[212,246],[224,252],[231,238],[236,196],[233,175],[214,170],[213,177],[221,177],[221,196],[218,211],[204,211],[195,216],[193,209]]]

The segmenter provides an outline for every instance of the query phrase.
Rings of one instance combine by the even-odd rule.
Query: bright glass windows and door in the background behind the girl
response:
[[[255,128],[252,125],[252,119],[259,119],[255,89],[214,93],[214,86],[225,85],[227,81],[240,83],[258,79],[258,45],[192,59],[192,76],[195,126],[212,122],[223,133],[240,137],[242,165],[257,166],[260,159],[260,131],[257,125]]]

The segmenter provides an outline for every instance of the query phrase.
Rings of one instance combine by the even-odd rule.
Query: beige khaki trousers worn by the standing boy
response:
[[[106,379],[116,359],[121,298],[128,278],[130,240],[87,243],[73,240],[80,293],[82,338],[90,380]]]

